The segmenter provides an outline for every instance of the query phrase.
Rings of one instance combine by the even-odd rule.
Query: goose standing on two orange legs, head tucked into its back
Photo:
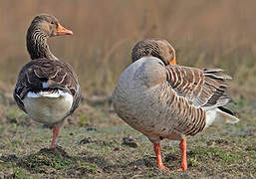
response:
[[[138,42],[132,64],[121,75],[113,93],[118,115],[153,143],[159,168],[160,140],[180,140],[181,167],[186,170],[186,136],[195,135],[213,122],[235,123],[239,119],[223,105],[232,101],[220,69],[176,65],[175,51],[165,40]]]

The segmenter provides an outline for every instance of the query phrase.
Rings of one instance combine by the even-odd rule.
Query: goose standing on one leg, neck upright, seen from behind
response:
[[[54,16],[36,16],[27,32],[27,50],[32,61],[21,69],[13,91],[23,111],[53,127],[51,148],[64,119],[78,107],[81,89],[72,67],[51,53],[47,39],[72,34]]]

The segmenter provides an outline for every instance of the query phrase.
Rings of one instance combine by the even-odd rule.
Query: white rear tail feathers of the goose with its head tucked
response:
[[[236,123],[239,119],[229,113],[218,108],[206,110],[206,127],[210,125],[223,125],[225,123]]]

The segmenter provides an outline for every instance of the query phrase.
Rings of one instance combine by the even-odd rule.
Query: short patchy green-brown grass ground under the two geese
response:
[[[0,128],[0,176],[9,178],[255,178],[255,101],[232,105],[241,121],[207,128],[187,140],[188,170],[177,172],[177,141],[163,140],[162,156],[170,171],[156,167],[152,144],[113,113],[112,106],[90,101],[67,121],[57,147],[48,149],[52,132],[7,106]],[[91,107],[90,111],[89,108]],[[87,109],[87,110],[85,110]],[[91,120],[94,118],[95,120]]]

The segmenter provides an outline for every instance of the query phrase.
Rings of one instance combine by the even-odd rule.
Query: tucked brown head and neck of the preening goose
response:
[[[131,52],[132,63],[146,56],[158,58],[165,66],[176,64],[175,50],[166,40],[146,39],[137,42]]]

